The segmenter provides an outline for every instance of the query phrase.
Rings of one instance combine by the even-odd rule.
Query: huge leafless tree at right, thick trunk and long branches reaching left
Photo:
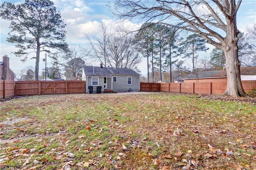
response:
[[[224,95],[247,96],[242,88],[238,60],[236,14],[242,0],[116,0],[112,12],[123,19],[142,18],[198,33],[224,51],[227,88]],[[168,20],[166,20],[168,19]],[[172,20],[178,19],[178,20]]]

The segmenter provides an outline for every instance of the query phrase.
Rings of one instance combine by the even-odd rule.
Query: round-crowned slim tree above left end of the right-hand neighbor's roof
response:
[[[192,71],[196,72],[195,64],[196,59],[198,58],[198,52],[207,51],[209,48],[206,47],[206,40],[200,37],[198,34],[194,33],[188,35],[188,37],[180,44],[181,53],[184,53],[183,59],[192,60]]]

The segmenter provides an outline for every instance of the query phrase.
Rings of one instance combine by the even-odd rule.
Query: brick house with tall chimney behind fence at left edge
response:
[[[0,62],[0,80],[14,81],[14,72],[10,69],[10,58],[7,55],[3,56],[3,61]]]

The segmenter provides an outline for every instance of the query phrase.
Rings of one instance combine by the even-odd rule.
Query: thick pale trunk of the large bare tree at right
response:
[[[226,41],[222,44],[222,50],[226,57],[226,72],[227,72],[227,88],[224,95],[228,96],[247,96],[242,87],[240,77],[240,62],[238,60],[238,29],[236,27],[236,20],[229,20],[227,24]],[[225,44],[226,43],[226,44]]]

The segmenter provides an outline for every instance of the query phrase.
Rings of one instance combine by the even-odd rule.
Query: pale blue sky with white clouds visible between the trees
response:
[[[0,0],[2,4],[4,0]],[[14,4],[24,3],[24,0],[5,0]],[[69,45],[86,46],[85,33],[93,34],[98,27],[98,23],[106,21],[114,24],[114,16],[108,11],[108,5],[113,0],[53,0],[56,8],[60,11],[62,19],[66,23],[67,39]],[[242,32],[246,27],[256,23],[256,0],[243,0],[237,15],[238,29]],[[10,57],[10,68],[14,72],[22,70],[26,66],[34,68],[35,60],[28,60],[26,63],[20,61],[21,58],[14,56],[11,52],[16,51],[13,44],[6,42],[10,21],[0,19],[0,61],[3,55]],[[42,55],[42,54],[41,54]],[[98,64],[98,63],[95,63]],[[48,65],[50,66],[50,65]],[[44,62],[40,61],[40,70],[44,68]],[[146,60],[138,65],[141,74],[146,75]]]

